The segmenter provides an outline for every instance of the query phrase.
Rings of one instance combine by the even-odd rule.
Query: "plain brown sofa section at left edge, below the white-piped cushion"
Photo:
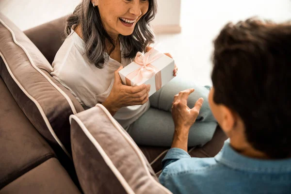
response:
[[[1,77],[0,91],[1,189],[55,154],[21,111]]]

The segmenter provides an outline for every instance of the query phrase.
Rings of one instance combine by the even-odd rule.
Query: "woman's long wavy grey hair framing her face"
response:
[[[146,46],[154,42],[154,32],[149,22],[154,19],[157,13],[156,0],[148,0],[148,11],[136,23],[134,31],[129,36],[119,35],[120,41],[127,49],[125,58],[133,58],[138,51],[145,51]],[[106,32],[101,22],[99,10],[93,7],[91,0],[82,0],[75,8],[73,14],[66,20],[65,35],[68,36],[74,24],[81,26],[82,39],[85,42],[86,56],[89,62],[98,68],[103,68],[104,63],[109,59],[115,44],[110,35]],[[112,44],[112,49],[106,54],[105,40]]]

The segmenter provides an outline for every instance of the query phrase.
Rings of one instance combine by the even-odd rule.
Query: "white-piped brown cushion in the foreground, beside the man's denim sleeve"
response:
[[[70,116],[74,165],[85,194],[170,194],[129,134],[101,104]]]

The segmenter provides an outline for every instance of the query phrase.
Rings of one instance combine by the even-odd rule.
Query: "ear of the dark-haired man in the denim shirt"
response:
[[[230,137],[231,132],[236,125],[237,116],[229,108],[223,105],[221,107],[221,114],[222,114],[222,117],[221,117],[220,126],[222,129],[224,129],[226,135]]]

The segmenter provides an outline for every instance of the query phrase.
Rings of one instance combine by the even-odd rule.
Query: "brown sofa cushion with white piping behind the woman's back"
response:
[[[9,19],[0,14],[0,76],[21,110],[49,141],[70,155],[69,115],[83,111],[54,80],[47,59]]]

